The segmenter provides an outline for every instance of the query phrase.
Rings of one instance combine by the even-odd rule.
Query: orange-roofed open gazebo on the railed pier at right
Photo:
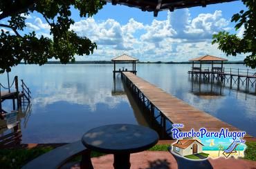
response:
[[[197,57],[194,59],[190,59],[192,61],[192,72],[194,71],[201,71],[202,69],[202,62],[203,63],[212,63],[212,72],[217,71],[217,72],[222,72],[223,70],[223,61],[228,61],[228,59],[223,59],[220,57],[214,57],[211,55],[205,55],[203,57]],[[194,62],[200,62],[200,67],[194,67]],[[219,63],[221,62],[221,67],[213,67],[214,63]]]

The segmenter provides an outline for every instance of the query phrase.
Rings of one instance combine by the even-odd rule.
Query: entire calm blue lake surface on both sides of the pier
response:
[[[256,137],[256,95],[216,84],[191,81],[191,65],[138,64],[138,76],[210,115]],[[117,68],[130,65],[118,65]],[[225,68],[246,68],[225,65]],[[12,69],[30,88],[33,103],[30,113],[20,114],[23,143],[76,141],[84,132],[110,123],[147,126],[136,103],[124,90],[120,76],[113,81],[113,65],[20,65]],[[256,70],[255,70],[256,72]],[[6,74],[0,81],[7,86]],[[211,96],[201,93],[211,93]],[[12,110],[12,101],[3,102]],[[182,122],[182,121],[181,121]],[[0,120],[0,126],[4,121]],[[0,130],[0,135],[8,130]]]

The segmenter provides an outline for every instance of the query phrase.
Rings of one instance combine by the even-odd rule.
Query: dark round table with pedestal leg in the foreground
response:
[[[158,134],[143,126],[113,124],[93,128],[82,137],[86,148],[114,155],[114,168],[130,168],[130,154],[151,148]]]

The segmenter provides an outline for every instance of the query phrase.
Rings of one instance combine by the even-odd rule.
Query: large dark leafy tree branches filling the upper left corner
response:
[[[43,65],[48,59],[61,63],[75,61],[75,54],[89,55],[97,48],[86,37],[79,37],[70,30],[71,6],[80,10],[80,17],[91,17],[104,6],[100,0],[14,0],[0,1],[0,73],[10,72],[21,61]],[[39,12],[51,26],[52,39],[38,36],[34,31],[24,33],[26,15]],[[4,21],[4,23],[3,23]],[[10,30],[15,32],[11,34]]]

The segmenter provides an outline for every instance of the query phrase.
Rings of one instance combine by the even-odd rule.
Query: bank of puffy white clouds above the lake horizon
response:
[[[28,23],[30,29],[40,28],[39,34],[49,32],[50,26],[40,18],[35,19],[35,25],[31,24]],[[77,57],[78,60],[111,60],[125,52],[142,61],[188,61],[203,54],[226,57],[216,44],[211,44],[212,34],[232,29],[221,10],[191,17],[190,11],[183,9],[167,12],[165,20],[154,19],[148,24],[134,18],[121,24],[114,19],[96,21],[90,17],[75,22],[71,30],[98,45],[93,55]],[[243,31],[241,28],[239,34]],[[243,60],[244,56],[228,59]]]

